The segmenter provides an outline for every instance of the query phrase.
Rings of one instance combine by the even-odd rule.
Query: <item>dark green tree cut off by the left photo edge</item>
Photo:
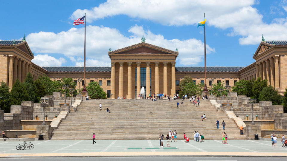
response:
[[[0,97],[3,98],[3,100],[0,99],[0,108],[4,110],[4,113],[10,113],[10,92],[4,81],[0,83]]]

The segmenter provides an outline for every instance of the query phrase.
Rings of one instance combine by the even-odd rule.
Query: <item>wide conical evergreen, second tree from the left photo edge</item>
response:
[[[21,105],[21,101],[29,100],[27,90],[25,89],[23,83],[21,83],[18,79],[11,89],[10,100],[11,105]]]

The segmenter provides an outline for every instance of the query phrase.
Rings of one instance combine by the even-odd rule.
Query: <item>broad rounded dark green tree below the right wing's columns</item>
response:
[[[281,95],[278,91],[269,85],[262,89],[259,94],[259,101],[272,101],[272,105],[281,105]]]

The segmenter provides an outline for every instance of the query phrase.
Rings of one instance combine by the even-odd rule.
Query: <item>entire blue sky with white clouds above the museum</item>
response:
[[[108,50],[141,42],[178,48],[176,66],[248,66],[261,42],[286,41],[287,0],[0,0],[0,40],[26,41],[39,66],[111,66]]]

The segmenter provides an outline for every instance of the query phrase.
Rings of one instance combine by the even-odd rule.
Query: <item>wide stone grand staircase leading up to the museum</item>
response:
[[[160,134],[177,131],[177,138],[183,133],[193,140],[193,132],[203,132],[205,139],[222,139],[222,126],[216,128],[216,120],[226,122],[225,132],[230,140],[246,140],[232,119],[223,112],[217,112],[209,101],[201,100],[200,106],[193,106],[189,100],[176,107],[172,100],[84,100],[76,112],[68,114],[59,127],[54,129],[51,140],[89,140],[96,134],[97,140],[155,140]],[[102,111],[99,104],[102,104]],[[109,108],[111,113],[106,112]],[[207,117],[201,121],[201,114]]]

